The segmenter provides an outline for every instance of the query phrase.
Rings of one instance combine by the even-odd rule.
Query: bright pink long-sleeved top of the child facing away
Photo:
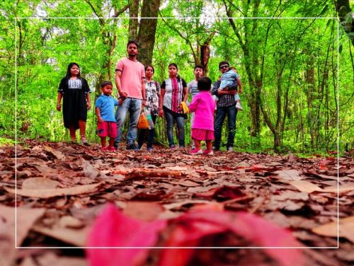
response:
[[[193,129],[207,129],[214,131],[215,101],[210,91],[200,91],[193,97],[189,105],[190,112],[195,112]]]

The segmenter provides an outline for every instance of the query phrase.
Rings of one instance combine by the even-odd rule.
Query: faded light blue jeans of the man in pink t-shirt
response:
[[[122,137],[122,127],[129,111],[129,129],[127,133],[127,143],[134,143],[137,138],[137,121],[139,120],[140,112],[142,110],[142,100],[135,98],[126,98],[122,105],[118,106],[115,112],[115,120],[117,120],[117,137],[115,138],[115,145],[118,146],[120,138]]]

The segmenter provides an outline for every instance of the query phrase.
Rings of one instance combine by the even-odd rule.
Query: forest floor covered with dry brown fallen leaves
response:
[[[353,265],[354,262],[353,154],[339,158],[337,165],[336,155],[298,158],[292,154],[270,156],[218,151],[214,156],[191,156],[186,149],[159,146],[154,151],[143,147],[142,151],[120,149],[113,153],[101,151],[98,144],[86,147],[31,140],[17,146],[17,160],[13,146],[1,146],[0,159],[1,266],[88,265],[85,250],[72,247],[87,244],[95,218],[107,202],[113,202],[122,216],[134,219],[138,225],[138,221],[169,221],[169,226],[159,233],[155,246],[187,243],[251,247],[295,243],[301,247],[326,247],[297,250],[304,256],[302,265]],[[193,212],[197,217],[200,212],[214,214],[214,226],[222,224],[227,229],[211,229],[205,224],[200,229],[197,223],[191,227],[204,231],[193,241],[187,233],[181,234],[181,238],[186,238],[184,242],[171,240],[171,230],[176,227],[173,222]],[[247,234],[244,232],[236,236],[238,229],[232,231],[229,227],[234,218],[224,216],[241,217],[244,212],[267,221],[263,229],[255,226],[253,232],[247,232],[251,234],[247,239],[241,239]],[[338,239],[337,214],[340,217]],[[116,216],[111,217],[112,221],[108,218],[107,224],[114,224]],[[222,220],[222,217],[230,219]],[[210,222],[208,218],[203,221]],[[268,225],[276,225],[294,241],[282,242],[279,234],[270,235]],[[134,230],[127,226],[125,233],[138,235],[138,230],[131,232]],[[134,236],[144,238],[137,235]],[[329,248],[337,247],[337,240],[339,248]],[[18,246],[35,248],[15,249],[15,241]],[[120,258],[128,251],[111,250],[120,253]],[[173,254],[181,258],[189,256],[185,265],[295,265],[290,258],[281,261],[285,251],[275,250],[280,257],[262,249],[244,248],[198,249],[188,254],[176,250]],[[157,265],[159,256],[161,250],[145,249],[144,259],[139,263]],[[160,265],[168,264],[160,262]]]

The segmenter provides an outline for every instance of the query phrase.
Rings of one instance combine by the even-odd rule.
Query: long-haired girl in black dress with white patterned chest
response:
[[[64,127],[69,129],[72,141],[76,142],[76,129],[80,129],[81,143],[89,146],[86,140],[87,110],[91,108],[90,88],[86,79],[80,76],[79,64],[70,63],[67,75],[60,81],[57,97],[57,110],[62,110],[63,98]]]

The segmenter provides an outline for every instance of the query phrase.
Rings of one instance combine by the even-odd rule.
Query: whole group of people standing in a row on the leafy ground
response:
[[[170,149],[175,148],[173,122],[176,122],[178,145],[185,147],[185,119],[188,109],[191,113],[190,154],[212,155],[220,149],[222,125],[227,116],[229,135],[227,150],[232,151],[236,133],[236,115],[242,110],[238,93],[242,92],[241,81],[236,69],[230,68],[226,61],[219,63],[221,78],[212,87],[212,81],[204,76],[204,69],[194,68],[195,79],[190,83],[178,75],[176,64],[169,64],[169,79],[161,83],[154,81],[154,67],[137,61],[139,46],[131,40],[127,43],[127,57],[115,67],[115,86],[118,99],[112,96],[113,83],[101,84],[102,94],[95,103],[97,134],[101,137],[103,151],[115,151],[122,137],[122,127],[129,113],[126,149],[141,149],[147,135],[147,150],[153,149],[154,128],[140,129],[137,136],[137,123],[142,112],[151,117],[153,123],[157,116],[165,117],[166,133]],[[188,104],[188,94],[191,102]],[[63,106],[61,100],[63,99]],[[86,79],[80,76],[79,64],[70,63],[67,74],[59,84],[57,110],[62,110],[64,127],[69,129],[72,142],[76,143],[76,129],[79,129],[81,143],[86,140],[87,110],[91,108],[90,89]],[[115,107],[118,107],[115,111]],[[216,113],[215,113],[216,112]],[[106,137],[109,137],[108,146]],[[137,146],[136,146],[137,141]],[[201,141],[206,149],[202,151]]]

